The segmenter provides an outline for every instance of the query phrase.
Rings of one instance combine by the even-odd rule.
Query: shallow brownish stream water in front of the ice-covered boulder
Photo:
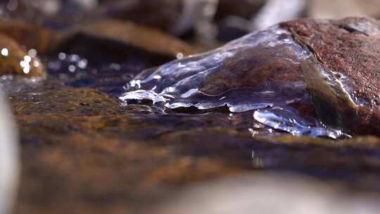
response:
[[[253,138],[252,113],[167,115],[86,88],[24,93],[9,97],[23,148],[16,213],[136,213],[188,184],[258,169],[379,187],[376,138]]]

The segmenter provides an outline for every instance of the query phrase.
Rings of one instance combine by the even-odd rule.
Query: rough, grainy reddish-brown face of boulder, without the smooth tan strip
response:
[[[300,19],[281,23],[281,27],[293,32],[298,42],[315,53],[317,63],[342,80],[341,89],[346,93],[346,99],[343,99],[346,103],[340,101],[338,107],[331,108],[331,111],[341,109],[340,111],[350,113],[343,116],[338,123],[354,133],[379,135],[379,22],[371,18]],[[320,106],[324,104],[329,106],[331,102],[325,99],[319,103]],[[343,109],[344,106],[346,109]],[[352,114],[353,111],[355,115]]]

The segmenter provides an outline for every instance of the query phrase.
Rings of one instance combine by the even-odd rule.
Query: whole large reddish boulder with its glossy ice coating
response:
[[[369,18],[281,23],[145,70],[120,99],[170,109],[270,108],[255,119],[286,132],[310,127],[303,119],[312,117],[322,127],[379,135],[379,32]]]

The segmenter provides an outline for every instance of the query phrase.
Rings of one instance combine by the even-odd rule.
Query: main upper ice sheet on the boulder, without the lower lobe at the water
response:
[[[255,104],[260,103],[271,106],[268,99],[271,95],[263,100],[260,94],[275,94],[274,98],[284,99],[282,103],[285,99],[299,101],[305,94],[300,64],[308,60],[308,55],[289,32],[272,27],[219,49],[145,70],[129,82],[132,92],[120,99],[127,102],[129,99],[152,99],[151,94],[155,94],[153,102],[163,101],[167,108],[208,109],[227,105],[230,111],[234,111],[234,106],[239,108],[239,103],[247,105],[242,111],[254,109]],[[281,88],[288,88],[289,94],[281,96]],[[236,94],[234,91],[246,97],[228,95]],[[138,94],[141,96],[134,96]],[[257,97],[257,103],[250,103],[247,98],[250,95]]]

